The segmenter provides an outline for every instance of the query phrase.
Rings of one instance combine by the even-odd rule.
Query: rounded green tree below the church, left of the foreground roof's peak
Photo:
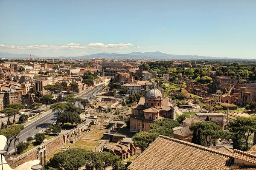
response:
[[[137,147],[141,147],[144,151],[149,144],[154,142],[157,139],[158,133],[148,133],[148,132],[139,132],[134,135],[131,139],[134,142],[134,145]]]

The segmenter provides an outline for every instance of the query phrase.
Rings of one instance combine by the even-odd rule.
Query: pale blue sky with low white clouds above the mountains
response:
[[[0,0],[0,52],[256,58],[256,0]]]

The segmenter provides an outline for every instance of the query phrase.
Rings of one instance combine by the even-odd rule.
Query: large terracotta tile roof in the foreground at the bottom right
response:
[[[160,136],[127,169],[228,170],[232,164],[232,154]]]

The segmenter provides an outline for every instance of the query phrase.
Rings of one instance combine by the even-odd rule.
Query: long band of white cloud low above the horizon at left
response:
[[[90,43],[87,45],[81,45],[77,43],[70,43],[67,45],[28,45],[28,46],[18,46],[18,45],[4,45],[0,44],[0,49],[12,48],[18,50],[59,50],[59,49],[87,49],[87,48],[129,48],[133,46],[131,43],[119,43],[119,44],[102,44],[102,43]]]

